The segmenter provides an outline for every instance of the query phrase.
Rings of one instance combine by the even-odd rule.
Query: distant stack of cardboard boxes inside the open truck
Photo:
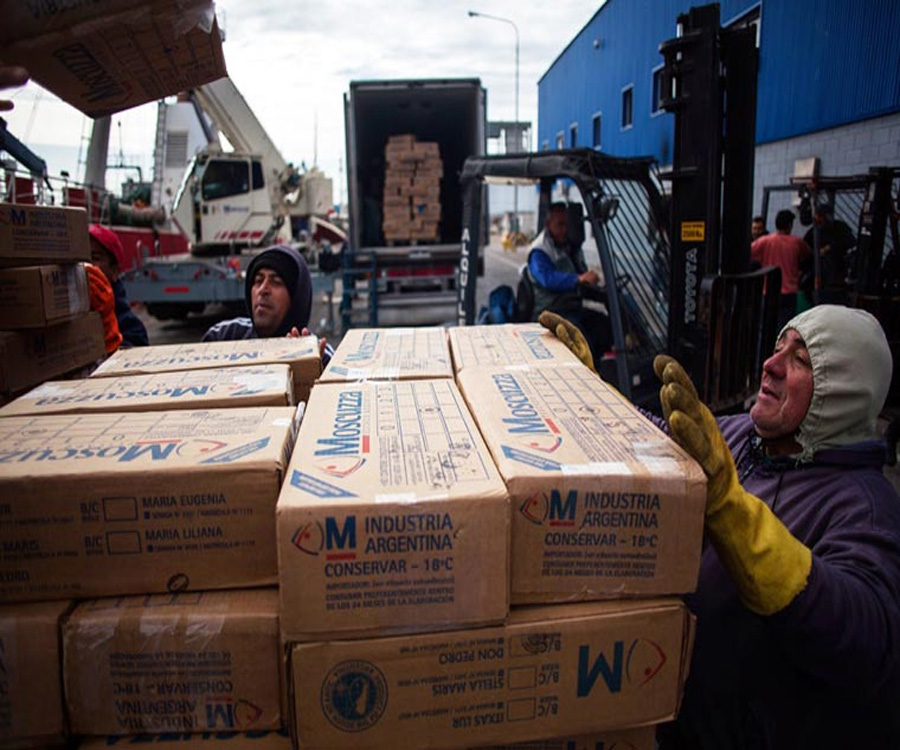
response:
[[[382,231],[385,242],[436,242],[440,238],[441,178],[437,143],[392,135],[384,148]]]

